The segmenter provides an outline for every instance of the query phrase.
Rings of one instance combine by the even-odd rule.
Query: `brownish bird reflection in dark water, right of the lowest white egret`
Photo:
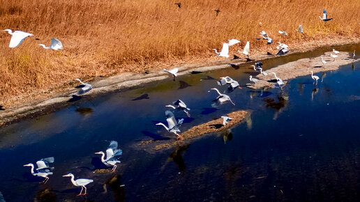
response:
[[[116,175],[107,180],[103,185],[104,192],[101,192],[101,194],[107,194],[107,186],[109,186],[114,193],[115,201],[125,201],[125,185],[121,184],[120,179],[121,176]]]

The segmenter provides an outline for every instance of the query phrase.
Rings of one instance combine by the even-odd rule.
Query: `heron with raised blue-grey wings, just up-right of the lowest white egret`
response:
[[[112,166],[111,171],[114,172],[117,169],[117,163],[120,163],[118,158],[123,154],[123,150],[117,148],[117,141],[110,141],[110,145],[107,147],[106,150],[106,159],[105,153],[103,151],[95,153],[97,155],[101,155],[101,162],[106,166]]]

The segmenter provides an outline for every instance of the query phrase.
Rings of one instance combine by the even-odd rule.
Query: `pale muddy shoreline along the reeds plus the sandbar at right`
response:
[[[351,43],[343,42],[342,44],[336,43],[333,45],[351,45],[351,44],[356,44],[357,42],[359,42],[359,41],[352,40]],[[299,52],[311,51],[313,49],[317,49],[317,48],[325,47],[325,46],[329,46],[329,44],[314,45],[312,48],[310,48],[310,49],[308,48],[306,50],[294,48],[294,49],[290,49],[290,53],[287,55],[297,54]],[[347,57],[349,57],[349,53],[341,53],[341,54],[342,54],[341,58],[343,58],[343,56],[345,56],[345,55]],[[250,56],[250,58],[253,59],[253,61],[260,61],[260,60],[265,60],[265,59],[272,59],[272,58],[274,58],[274,56],[269,56],[266,54],[253,54],[252,56]],[[324,57],[324,59],[329,60],[328,57],[326,57],[326,58]],[[340,61],[340,56],[337,59]],[[302,59],[302,60],[310,60],[310,59]],[[178,75],[187,75],[187,74],[190,74],[190,71],[204,72],[204,71],[211,71],[211,70],[219,70],[219,69],[223,69],[223,68],[229,68],[230,63],[232,63],[234,65],[242,65],[244,63],[249,63],[249,65],[250,65],[250,63],[253,63],[253,61],[247,62],[243,58],[241,58],[241,59],[223,59],[221,61],[210,61],[210,62],[204,62],[204,63],[192,63],[192,64],[188,64],[188,65],[181,65],[181,66],[178,66],[177,68],[179,68]],[[359,61],[359,59],[357,61]],[[311,63],[311,61],[307,61],[307,62]],[[321,60],[320,60],[320,64],[321,64]],[[311,70],[313,70],[314,73],[319,72],[319,71],[336,70],[336,69],[338,69],[338,67],[340,65],[345,65],[346,63],[341,63],[337,67],[334,67],[335,64],[336,63],[334,63],[332,65],[331,62],[329,61],[329,65],[325,65],[325,66],[327,66],[327,68],[311,68]],[[317,61],[317,65],[319,65],[319,61]],[[276,72],[276,71],[282,70],[282,68],[279,68],[279,67],[272,68],[271,71]],[[267,72],[269,72],[269,70],[267,70]],[[310,73],[308,73],[308,74],[310,74]],[[263,75],[257,75],[257,77],[259,79],[264,79],[264,78],[262,78],[262,76]],[[271,76],[273,76],[273,75],[271,75]],[[298,76],[301,76],[301,75],[292,74],[292,77],[286,77],[285,75],[283,75],[281,73],[278,75],[278,77],[280,77],[283,80],[292,79],[292,78],[298,77]],[[267,76],[267,77],[269,77],[269,76]],[[95,98],[96,96],[105,95],[107,93],[128,91],[128,90],[131,90],[134,88],[141,88],[141,86],[144,84],[149,84],[150,82],[160,81],[163,79],[171,79],[171,77],[166,72],[163,72],[161,70],[140,73],[140,74],[139,73],[123,73],[121,75],[115,75],[112,77],[107,77],[105,79],[96,78],[95,81],[91,82],[93,89],[91,91],[89,91],[89,93],[86,93],[84,95],[84,97],[77,102],[86,102],[87,100],[91,100],[91,99]],[[269,82],[265,82],[265,83],[260,82],[259,84],[254,85],[253,88],[261,88],[263,86],[273,85],[273,83],[269,83],[269,84],[268,83]],[[250,88],[251,88],[251,86],[250,86]],[[52,95],[52,98],[47,97],[40,101],[35,100],[35,101],[29,102],[26,104],[22,104],[17,107],[2,110],[2,111],[0,111],[0,117],[1,117],[0,118],[0,127],[3,125],[8,125],[11,123],[21,121],[23,119],[34,118],[36,116],[40,116],[43,114],[49,114],[53,111],[57,111],[59,109],[63,109],[64,107],[68,107],[71,104],[73,104],[73,102],[69,102],[69,100],[73,98],[73,95],[75,95],[75,93],[77,93],[77,89],[75,89],[75,88],[66,89],[65,91],[63,91],[61,93]]]

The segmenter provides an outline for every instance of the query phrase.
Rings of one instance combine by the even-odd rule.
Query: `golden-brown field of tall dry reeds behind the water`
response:
[[[212,48],[237,38],[250,54],[269,45],[255,40],[264,30],[290,49],[304,42],[360,36],[360,3],[354,0],[285,1],[0,0],[1,29],[33,33],[8,47],[0,33],[0,105],[13,105],[74,86],[75,78],[143,72],[179,63],[215,60]],[[220,9],[218,17],[214,10]],[[322,9],[334,19],[320,21]],[[259,24],[262,22],[262,25]],[[303,25],[305,36],[294,29]],[[288,37],[278,30],[285,30]],[[35,40],[39,38],[40,40]],[[64,49],[43,49],[58,38]]]

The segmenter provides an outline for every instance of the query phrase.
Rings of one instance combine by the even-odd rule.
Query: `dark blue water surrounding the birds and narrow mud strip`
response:
[[[264,70],[327,49],[263,61]],[[336,47],[352,52],[359,45]],[[241,86],[256,75],[239,69],[169,78],[133,91],[80,100],[66,109],[0,129],[0,192],[6,201],[355,201],[360,188],[360,63],[326,72],[317,88],[310,75],[279,88],[236,89],[236,103],[211,108],[209,88],[229,75]],[[322,73],[316,74],[322,79]],[[187,86],[183,81],[189,84]],[[179,89],[180,88],[180,89]],[[145,99],[136,99],[142,96]],[[148,153],[142,140],[174,139],[163,127],[164,107],[181,98],[191,108],[182,131],[230,111],[250,109],[251,120],[178,148]],[[94,173],[111,140],[123,150],[116,173]],[[161,140],[160,140],[161,141]],[[46,185],[29,167],[55,157]],[[87,196],[69,178],[91,178]],[[106,191],[105,191],[106,189]]]

